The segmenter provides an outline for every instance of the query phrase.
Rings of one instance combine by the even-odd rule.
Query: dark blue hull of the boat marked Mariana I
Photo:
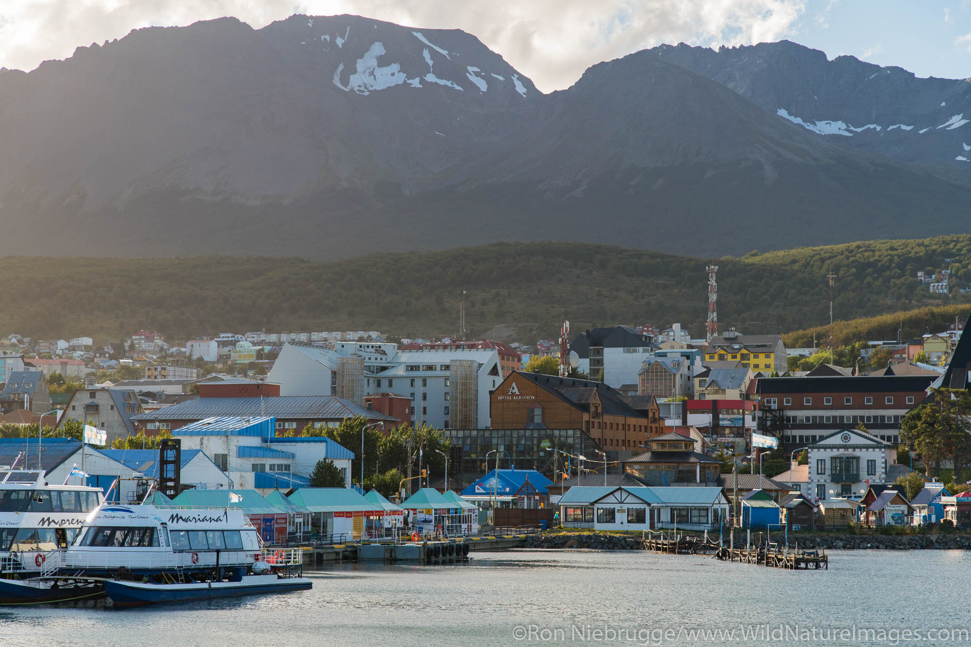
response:
[[[263,578],[246,578],[262,580]],[[215,584],[143,584],[108,580],[105,593],[119,606],[187,602],[199,599],[236,598],[270,593],[286,593],[312,588],[303,577],[273,578],[273,581],[218,582]]]

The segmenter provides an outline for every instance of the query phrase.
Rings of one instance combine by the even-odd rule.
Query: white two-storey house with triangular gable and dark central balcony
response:
[[[807,489],[816,501],[834,497],[859,498],[870,485],[892,482],[888,471],[897,450],[878,437],[844,429],[809,445]]]

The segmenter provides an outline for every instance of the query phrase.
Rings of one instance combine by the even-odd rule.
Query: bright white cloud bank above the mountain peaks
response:
[[[662,43],[717,47],[779,40],[806,1],[22,0],[0,9],[0,65],[29,70],[42,60],[70,56],[78,46],[150,25],[236,16],[259,28],[295,13],[358,14],[467,31],[550,91],[567,87],[594,63]]]

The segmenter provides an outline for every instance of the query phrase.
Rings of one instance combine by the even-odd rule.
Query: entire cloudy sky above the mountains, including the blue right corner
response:
[[[545,92],[589,66],[662,43],[788,39],[919,77],[971,77],[971,0],[0,0],[0,67],[32,70],[151,25],[236,16],[357,14],[463,29]]]

